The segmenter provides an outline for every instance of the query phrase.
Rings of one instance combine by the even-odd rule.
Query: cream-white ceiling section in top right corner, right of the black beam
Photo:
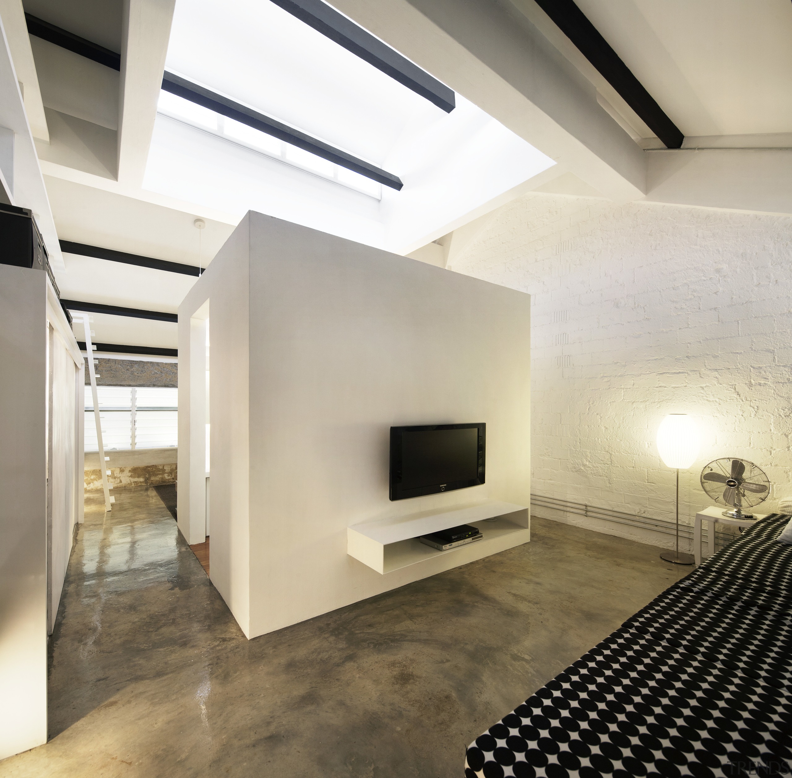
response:
[[[789,0],[576,0],[686,136],[792,131]]]

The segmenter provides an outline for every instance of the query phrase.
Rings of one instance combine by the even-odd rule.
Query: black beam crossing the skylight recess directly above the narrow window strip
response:
[[[165,77],[162,78],[162,89],[178,97],[183,97],[192,103],[202,105],[204,108],[208,108],[210,111],[219,113],[222,116],[227,116],[229,119],[246,124],[248,127],[253,127],[254,130],[264,132],[266,135],[272,135],[273,138],[291,143],[292,146],[297,146],[299,149],[310,151],[311,154],[316,154],[317,157],[334,162],[342,168],[352,170],[354,173],[360,173],[361,176],[371,180],[379,181],[383,186],[395,189],[397,192],[403,186],[402,179],[394,176],[393,173],[388,173],[376,165],[371,165],[362,159],[353,157],[352,154],[347,154],[334,146],[329,146],[329,144],[312,138],[304,132],[295,130],[294,127],[289,127],[287,124],[271,119],[269,116],[253,110],[253,108],[248,108],[246,105],[230,100],[228,97],[223,97],[223,95],[188,81],[186,78],[181,78],[181,76],[166,71]]]

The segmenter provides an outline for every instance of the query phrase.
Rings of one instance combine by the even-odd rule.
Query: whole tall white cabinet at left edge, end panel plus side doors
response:
[[[47,635],[82,521],[83,369],[43,271],[0,264],[0,333],[3,759],[47,741]]]

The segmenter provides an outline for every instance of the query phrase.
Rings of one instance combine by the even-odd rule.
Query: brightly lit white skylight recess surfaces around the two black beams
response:
[[[457,97],[446,113],[271,2],[177,0],[166,68],[399,176],[377,200],[158,116],[143,188],[404,253],[554,162]]]

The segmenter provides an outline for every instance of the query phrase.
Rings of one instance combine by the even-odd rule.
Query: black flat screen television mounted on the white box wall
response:
[[[390,499],[484,483],[486,424],[390,427]]]

